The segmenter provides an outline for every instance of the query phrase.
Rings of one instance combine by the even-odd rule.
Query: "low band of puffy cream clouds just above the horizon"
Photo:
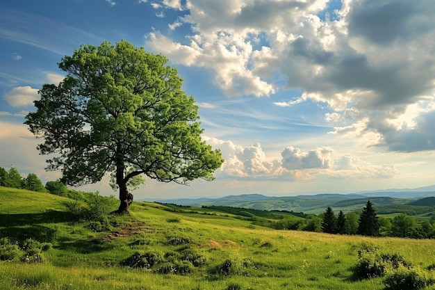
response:
[[[270,158],[259,143],[236,145],[230,140],[204,137],[219,148],[224,163],[217,174],[236,179],[280,179],[286,181],[313,179],[316,175],[328,178],[393,177],[400,171],[392,164],[372,165],[351,154],[340,155],[329,147],[303,151],[285,147],[279,158]]]

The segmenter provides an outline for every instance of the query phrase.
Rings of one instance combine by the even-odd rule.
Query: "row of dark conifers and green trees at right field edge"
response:
[[[412,239],[434,239],[433,220],[417,223],[407,214],[398,214],[394,218],[378,218],[373,204],[368,200],[361,214],[343,211],[334,214],[328,207],[322,217],[320,231],[329,234],[361,234],[363,236],[398,236]]]

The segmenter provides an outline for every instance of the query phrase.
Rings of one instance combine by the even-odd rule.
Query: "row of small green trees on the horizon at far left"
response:
[[[27,189],[28,191],[38,191],[41,193],[53,193],[56,195],[67,194],[67,186],[65,184],[58,181],[50,181],[44,186],[41,179],[35,173],[29,173],[26,177],[22,177],[15,167],[11,167],[9,170],[0,167],[0,186]]]

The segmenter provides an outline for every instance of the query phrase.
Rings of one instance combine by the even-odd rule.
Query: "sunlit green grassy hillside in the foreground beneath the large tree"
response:
[[[434,277],[433,240],[274,230],[219,208],[134,202],[127,216],[88,216],[81,207],[0,188],[0,258],[16,257],[0,260],[0,289],[384,289],[383,277],[354,279],[359,257],[374,252]],[[262,218],[280,214],[291,215]]]

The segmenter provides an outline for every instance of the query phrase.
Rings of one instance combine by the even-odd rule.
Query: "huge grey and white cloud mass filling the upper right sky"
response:
[[[298,98],[274,104],[283,109],[306,101],[327,104],[332,112],[325,120],[337,123],[336,134],[353,131],[370,136],[370,145],[394,151],[434,150],[427,131],[432,113],[423,112],[407,126],[391,120],[401,122],[411,106],[434,93],[435,2],[345,0],[333,19],[322,16],[327,0],[161,5],[187,10],[170,30],[185,24],[193,33],[181,43],[156,31],[146,46],[176,63],[212,70],[226,95],[301,90]],[[424,145],[405,146],[402,140],[409,137]]]

